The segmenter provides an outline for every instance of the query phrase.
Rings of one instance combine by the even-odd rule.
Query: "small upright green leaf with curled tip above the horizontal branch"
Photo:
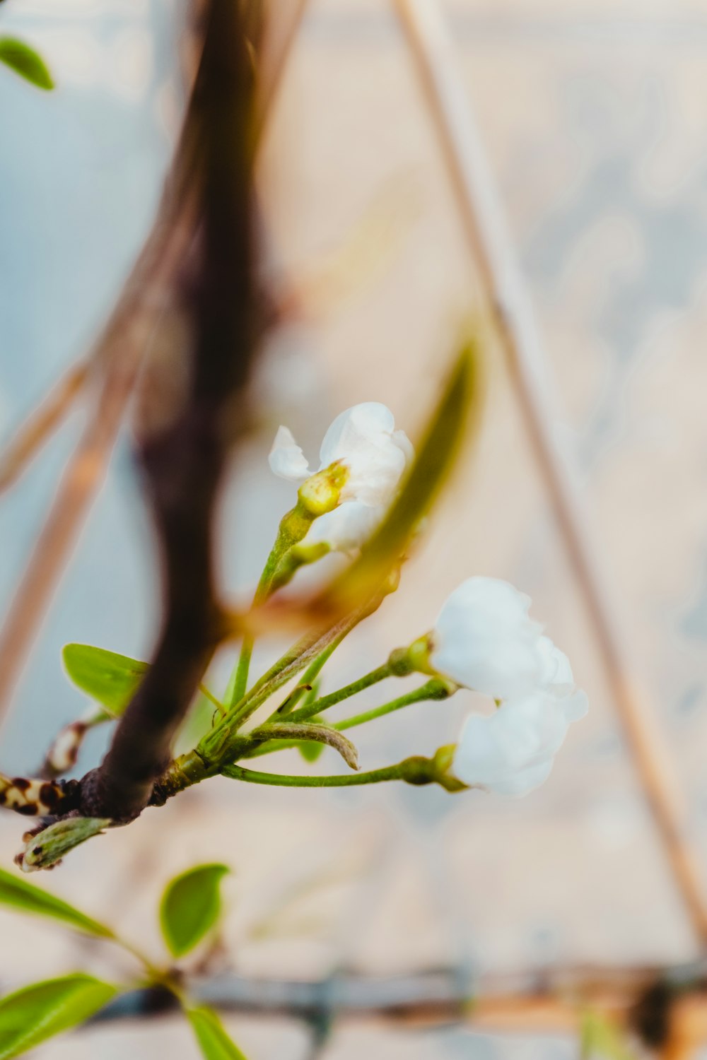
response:
[[[197,865],[166,885],[160,903],[160,923],[173,957],[193,950],[218,920],[218,886],[227,872],[230,872],[227,865]]]

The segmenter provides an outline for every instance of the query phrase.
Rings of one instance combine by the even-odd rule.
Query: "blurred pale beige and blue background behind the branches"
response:
[[[532,294],[553,436],[575,469],[633,674],[651,693],[707,895],[707,14],[692,0],[439,6]],[[87,350],[148,231],[183,102],[182,16],[174,0],[2,4],[0,31],[36,46],[57,83],[46,95],[0,68],[4,435]],[[314,456],[337,412],[374,400],[414,437],[459,319],[480,304],[435,127],[384,0],[308,4],[259,182],[271,282],[288,312],[262,360],[259,427],[224,505],[224,580],[244,599],[293,496],[267,466],[278,424]],[[217,855],[234,869],[227,941],[244,975],[454,968],[473,985],[556,964],[695,956],[513,388],[498,351],[490,359],[477,445],[401,589],[337,653],[329,681],[354,678],[426,631],[462,578],[507,578],[532,596],[590,697],[549,781],[520,801],[212,781],[111,833],[100,856],[93,844],[75,851],[53,893],[157,952],[164,882]],[[78,407],[2,499],[3,606],[82,423]],[[65,642],[148,657],[153,560],[125,437],[3,725],[0,767],[36,768],[51,735],[84,709],[61,671]],[[264,643],[259,659],[278,647]],[[224,682],[230,664],[218,660]],[[375,690],[365,702],[378,702]],[[360,730],[365,766],[454,740],[470,705],[457,696]],[[100,752],[99,738],[84,762]],[[288,754],[283,764],[296,767]],[[0,818],[5,866],[19,831]],[[79,960],[105,970],[103,951],[87,947],[0,912],[0,988]],[[312,1055],[296,1022],[229,1026],[254,1060]],[[176,1020],[102,1027],[38,1055],[149,1057],[157,1047],[194,1055]],[[577,1056],[561,1035],[365,1023],[335,1024],[318,1055],[364,1049],[412,1060]]]

